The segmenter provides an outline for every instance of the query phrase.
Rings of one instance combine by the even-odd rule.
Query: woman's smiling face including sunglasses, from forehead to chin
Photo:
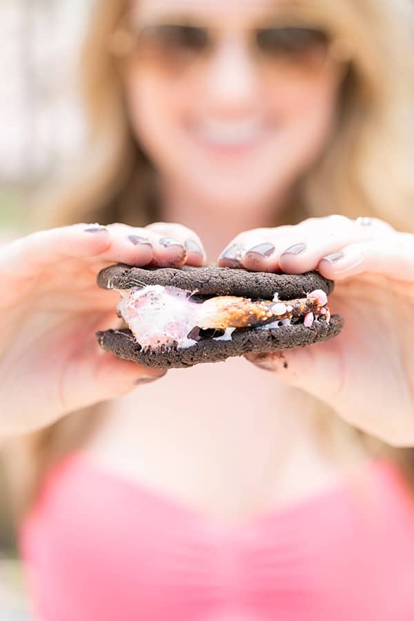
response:
[[[335,114],[337,66],[322,33],[306,32],[303,19],[300,32],[280,29],[288,6],[286,0],[133,6],[133,32],[149,34],[126,62],[126,100],[137,139],[167,187],[220,208],[258,208],[276,203],[323,150]],[[165,30],[171,24],[175,29]],[[270,26],[279,30],[265,30]]]

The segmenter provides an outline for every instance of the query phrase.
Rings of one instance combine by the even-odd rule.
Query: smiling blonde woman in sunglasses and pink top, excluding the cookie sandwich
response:
[[[412,618],[413,24],[408,0],[98,3],[79,185],[0,256],[40,619]],[[101,267],[206,251],[335,279],[343,333],[164,374],[99,351]]]

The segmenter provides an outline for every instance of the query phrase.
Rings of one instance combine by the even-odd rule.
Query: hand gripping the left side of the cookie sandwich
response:
[[[0,248],[0,435],[26,433],[70,411],[124,395],[165,372],[104,352],[119,295],[97,287],[110,264],[199,266],[197,235],[177,224],[77,224]]]

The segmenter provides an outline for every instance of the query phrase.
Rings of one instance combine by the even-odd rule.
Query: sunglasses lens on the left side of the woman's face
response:
[[[139,50],[169,65],[197,57],[209,46],[206,28],[179,24],[147,26],[139,33]]]

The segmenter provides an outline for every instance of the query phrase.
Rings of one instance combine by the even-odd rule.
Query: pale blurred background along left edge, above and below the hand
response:
[[[0,242],[82,148],[75,67],[92,0],[0,2]],[[0,621],[29,621],[0,453]]]

